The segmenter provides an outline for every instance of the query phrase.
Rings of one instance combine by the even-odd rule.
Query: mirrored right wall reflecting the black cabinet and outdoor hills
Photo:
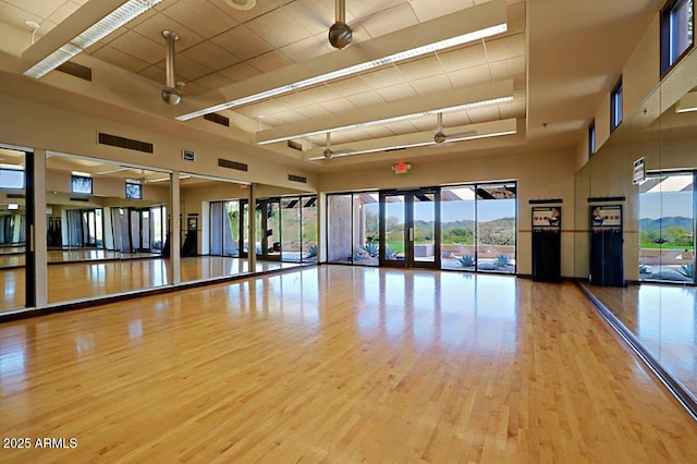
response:
[[[697,54],[576,174],[575,273],[697,403]]]

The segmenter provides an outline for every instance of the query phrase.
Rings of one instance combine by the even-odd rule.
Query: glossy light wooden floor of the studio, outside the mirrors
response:
[[[575,284],[343,266],[1,325],[0,429],[3,463],[697,456]]]

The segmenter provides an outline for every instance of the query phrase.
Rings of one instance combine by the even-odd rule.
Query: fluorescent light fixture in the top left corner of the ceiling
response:
[[[22,53],[24,75],[46,75],[160,1],[88,1]]]

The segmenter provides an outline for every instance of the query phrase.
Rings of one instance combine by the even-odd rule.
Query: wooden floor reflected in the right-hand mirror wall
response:
[[[588,289],[697,396],[697,289],[643,283]]]

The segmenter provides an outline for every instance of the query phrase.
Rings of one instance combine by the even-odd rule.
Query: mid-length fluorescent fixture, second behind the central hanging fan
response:
[[[389,103],[374,105],[359,110],[344,111],[341,114],[283,124],[258,131],[255,134],[255,139],[257,144],[266,145],[292,138],[335,133],[375,124],[386,124],[429,114],[462,111],[511,100],[513,100],[513,81],[503,80],[458,88],[456,90],[430,94],[428,98],[420,96],[406,98]],[[368,117],[366,118],[366,115]]]

